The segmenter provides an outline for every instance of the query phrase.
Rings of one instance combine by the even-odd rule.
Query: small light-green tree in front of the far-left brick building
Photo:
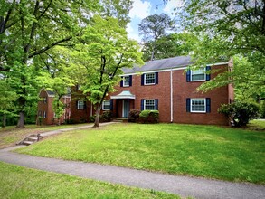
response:
[[[74,86],[74,76],[76,75],[76,68],[69,62],[69,49],[61,46],[55,46],[42,55],[38,56],[35,60],[43,67],[42,74],[37,77],[37,81],[42,82],[42,87],[45,90],[51,90],[54,93],[52,103],[52,110],[55,113],[55,118],[61,118],[65,107],[62,103],[62,96],[69,94],[70,87]],[[58,119],[60,125],[60,119]]]

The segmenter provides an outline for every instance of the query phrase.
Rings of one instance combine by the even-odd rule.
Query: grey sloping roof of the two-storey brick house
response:
[[[137,72],[143,72],[143,71],[160,71],[160,70],[166,70],[166,69],[172,69],[172,68],[180,68],[185,67],[193,62],[191,61],[190,56],[178,56],[178,57],[172,57],[172,58],[166,58],[162,60],[156,60],[156,61],[149,61],[146,62],[145,65],[142,67],[133,67],[131,69],[124,68],[123,72],[124,74],[129,73],[137,73]]]

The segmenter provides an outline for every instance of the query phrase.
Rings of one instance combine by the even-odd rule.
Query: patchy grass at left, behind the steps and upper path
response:
[[[0,148],[12,147],[16,142],[30,134],[38,134],[46,131],[62,129],[62,128],[72,128],[82,125],[61,125],[61,126],[36,126],[27,125],[25,128],[15,128],[15,126],[8,126],[5,128],[0,128]]]

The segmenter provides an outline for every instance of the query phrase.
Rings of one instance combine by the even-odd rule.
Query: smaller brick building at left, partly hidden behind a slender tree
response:
[[[54,100],[54,93],[50,90],[41,90],[40,101],[38,102],[38,115],[37,115],[37,124],[38,125],[52,125],[58,124],[54,112],[52,110],[52,102]],[[65,109],[62,117],[60,118],[60,123],[65,123],[67,119],[70,119],[71,109],[70,101],[71,95],[63,95],[61,99],[62,103],[65,105]]]

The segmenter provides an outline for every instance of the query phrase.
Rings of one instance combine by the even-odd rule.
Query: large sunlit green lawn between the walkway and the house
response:
[[[265,184],[264,131],[117,124],[67,132],[18,151],[175,175]]]

